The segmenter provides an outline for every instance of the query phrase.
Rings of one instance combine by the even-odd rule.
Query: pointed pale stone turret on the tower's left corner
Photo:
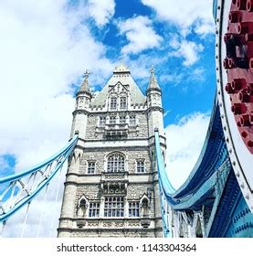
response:
[[[71,136],[79,133],[79,138],[84,139],[86,133],[87,118],[92,94],[89,85],[89,71],[84,73],[84,80],[76,94],[76,110],[73,112]]]

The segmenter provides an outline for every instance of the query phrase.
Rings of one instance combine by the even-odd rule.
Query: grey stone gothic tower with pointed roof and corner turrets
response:
[[[58,237],[163,237],[153,136],[159,128],[164,153],[163,109],[151,73],[146,97],[123,64],[96,97],[85,73]]]

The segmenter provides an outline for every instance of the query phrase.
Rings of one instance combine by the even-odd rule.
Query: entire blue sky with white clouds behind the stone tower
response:
[[[184,182],[204,142],[215,95],[212,0],[1,1],[0,31],[0,176],[63,147],[83,71],[90,70],[92,90],[100,91],[123,60],[143,92],[155,67],[167,170],[174,187]],[[43,208],[30,214],[25,236],[36,236]],[[15,217],[16,229],[6,236],[20,235],[22,218]]]

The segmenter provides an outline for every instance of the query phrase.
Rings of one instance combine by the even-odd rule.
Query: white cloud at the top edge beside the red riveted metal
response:
[[[212,16],[213,0],[142,0],[143,5],[152,7],[157,16],[167,22],[173,22],[187,34],[195,26],[195,32],[201,35],[214,31]]]

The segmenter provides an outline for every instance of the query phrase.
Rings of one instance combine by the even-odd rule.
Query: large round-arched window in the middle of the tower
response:
[[[111,157],[114,157],[114,159],[110,159]],[[117,159],[118,157],[121,157],[121,159]],[[126,157],[121,152],[112,152],[110,155],[107,156],[107,165],[106,165],[107,173],[112,173],[112,174],[122,173],[122,172],[125,172],[125,168],[126,168]]]

